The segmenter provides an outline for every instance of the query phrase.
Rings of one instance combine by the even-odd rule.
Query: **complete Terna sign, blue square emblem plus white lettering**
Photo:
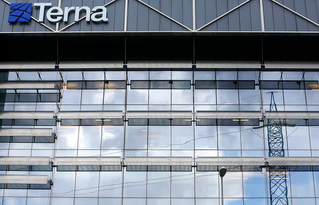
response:
[[[85,13],[86,21],[93,22],[107,22],[106,8],[103,6],[94,7],[91,11],[89,7],[52,7],[51,3],[34,3],[34,7],[39,8],[39,22],[43,22],[44,18],[47,18],[50,22],[67,22],[69,14],[75,13],[74,21],[78,22],[82,12]],[[49,7],[49,10],[45,14],[45,10]],[[30,22],[31,20],[32,4],[27,3],[13,3],[10,5],[9,22]]]

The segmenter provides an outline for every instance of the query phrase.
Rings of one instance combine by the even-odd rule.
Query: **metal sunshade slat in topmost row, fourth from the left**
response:
[[[260,69],[259,61],[196,61],[196,68]]]

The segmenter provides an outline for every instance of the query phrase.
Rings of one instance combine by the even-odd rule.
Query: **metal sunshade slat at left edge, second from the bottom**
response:
[[[0,165],[38,165],[49,166],[50,157],[1,156]]]

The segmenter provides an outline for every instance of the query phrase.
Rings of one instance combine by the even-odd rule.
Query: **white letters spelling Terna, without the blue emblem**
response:
[[[44,13],[45,13],[45,7],[51,7],[51,3],[34,3],[34,7],[40,7],[40,12],[39,12],[39,22],[44,21]],[[64,22],[68,21],[69,18],[69,13],[71,11],[75,12],[74,16],[74,21],[78,22],[79,21],[79,16],[82,11],[85,11],[85,20],[90,21],[90,19],[94,22],[100,22],[100,21],[108,21],[106,18],[106,8],[103,6],[98,6],[94,7],[92,9],[92,14],[91,10],[89,7],[65,7],[64,11],[60,7],[51,7],[47,11],[47,19],[50,22],[58,22],[63,20]]]

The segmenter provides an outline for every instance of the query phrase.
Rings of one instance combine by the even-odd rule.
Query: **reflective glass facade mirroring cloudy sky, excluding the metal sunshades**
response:
[[[48,175],[50,183],[1,184],[9,205],[221,204],[218,169],[55,166],[55,157],[268,158],[265,113],[319,110],[314,71],[9,71],[2,81],[56,81],[53,89],[2,89],[2,111],[52,112],[53,118],[5,118],[2,129],[52,129],[52,136],[0,136],[1,156],[50,157],[49,166],[0,166],[2,175]],[[61,84],[59,83],[61,82]],[[122,118],[60,118],[66,111],[118,111]],[[188,111],[190,117],[128,117],[129,112]],[[198,118],[197,112],[228,112]],[[234,118],[234,112],[263,117]],[[267,117],[267,115],[266,115]],[[319,157],[319,116],[281,118],[286,157]],[[53,163],[52,163],[53,161]],[[224,204],[270,204],[269,166],[229,166]],[[284,171],[283,171],[284,172]],[[319,204],[319,166],[286,166],[289,204]],[[49,186],[49,187],[48,187]],[[278,203],[279,204],[279,203]]]

